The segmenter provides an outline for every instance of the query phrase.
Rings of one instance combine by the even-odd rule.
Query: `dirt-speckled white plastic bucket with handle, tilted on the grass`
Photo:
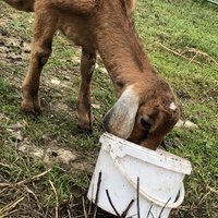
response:
[[[101,135],[100,143],[87,194],[100,208],[120,216],[125,211],[123,217],[167,218],[183,202],[182,181],[192,170],[187,160],[109,133]]]

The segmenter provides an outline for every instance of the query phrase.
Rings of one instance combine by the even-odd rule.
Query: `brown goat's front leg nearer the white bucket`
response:
[[[96,51],[82,49],[81,58],[81,87],[77,98],[78,126],[93,131],[93,114],[90,100],[92,76],[95,70]]]

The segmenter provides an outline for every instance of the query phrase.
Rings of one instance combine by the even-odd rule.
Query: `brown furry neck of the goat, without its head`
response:
[[[118,93],[123,86],[137,83],[142,72],[154,72],[134,29],[131,14],[120,1],[104,1],[96,17],[94,33],[97,50]]]

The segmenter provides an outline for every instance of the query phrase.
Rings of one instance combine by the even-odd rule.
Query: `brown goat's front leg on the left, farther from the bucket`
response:
[[[46,14],[44,14],[46,15]],[[36,14],[31,62],[26,77],[22,84],[24,112],[40,113],[39,81],[43,66],[51,53],[52,37],[56,32],[55,21],[48,15]]]

